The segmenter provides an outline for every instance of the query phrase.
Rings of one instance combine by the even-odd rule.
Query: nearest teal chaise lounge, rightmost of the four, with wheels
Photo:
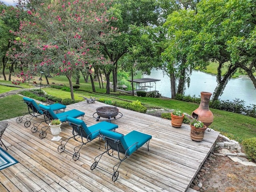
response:
[[[120,160],[117,164],[114,165],[112,174],[112,181],[116,181],[118,178],[118,168],[120,164],[126,160],[133,152],[138,150],[142,145],[147,144],[148,150],[149,150],[149,142],[152,138],[151,135],[144,134],[138,131],[132,131],[128,133],[127,135],[120,134],[118,132],[113,132],[109,130],[100,130],[100,137],[103,138],[103,140],[106,141],[106,151],[102,154],[96,156],[94,158],[94,163],[91,166],[91,170],[94,170],[100,159],[102,158],[103,154],[108,154],[111,157],[113,156],[113,152],[118,152],[118,157],[115,157]],[[120,153],[124,154],[123,158],[120,158]],[[98,159],[98,161],[96,160]],[[115,167],[117,166],[116,170]],[[101,170],[104,170],[103,168],[99,167]],[[108,172],[104,170],[105,172]],[[109,173],[109,172],[108,172]],[[110,173],[111,174],[111,173]]]

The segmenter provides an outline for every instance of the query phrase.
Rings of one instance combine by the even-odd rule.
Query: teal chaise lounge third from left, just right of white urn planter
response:
[[[73,155],[73,160],[78,160],[80,157],[80,149],[82,148],[83,145],[86,145],[88,142],[91,142],[92,140],[99,138],[100,142],[100,130],[115,130],[118,128],[118,125],[102,121],[97,124],[94,124],[92,126],[86,126],[85,122],[80,119],[72,118],[70,116],[67,117],[67,121],[69,122],[70,126],[73,128],[72,134],[73,136],[70,138],[67,138],[65,140],[62,140],[60,145],[58,146],[58,152],[64,152],[65,150],[65,145],[67,142],[71,139],[74,138],[74,140],[81,142],[79,146],[76,146],[74,148],[74,155]],[[78,151],[76,149],[78,148]]]

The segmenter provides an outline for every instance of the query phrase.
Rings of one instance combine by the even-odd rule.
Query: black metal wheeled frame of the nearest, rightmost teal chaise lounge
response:
[[[129,155],[127,154],[128,150],[134,146],[134,145],[137,145],[138,142],[132,144],[131,146],[129,146],[129,148],[127,150],[124,149],[124,146],[122,145],[122,143],[120,142],[120,140],[117,140],[117,139],[113,139],[113,138],[109,138],[107,136],[103,136],[102,134],[100,134],[100,138],[103,138],[103,140],[106,141],[105,143],[105,148],[106,148],[106,151],[104,151],[102,154],[99,154],[98,156],[96,156],[94,158],[94,163],[92,164],[91,166],[91,170],[94,170],[96,167],[98,167],[100,170],[103,170],[109,174],[112,175],[112,181],[116,181],[117,178],[118,178],[118,175],[119,175],[119,172],[118,172],[118,168],[120,166],[120,164],[126,160],[126,158],[129,157]],[[148,142],[146,142],[147,146],[148,146],[148,150],[149,150],[149,142],[150,140],[148,140]],[[115,157],[114,156],[114,151],[117,151],[118,153],[118,157]],[[98,166],[98,162],[100,161],[100,159],[102,158],[102,156],[104,154],[108,154],[108,156],[111,156],[111,157],[114,157],[115,159],[118,159],[119,162],[117,164],[115,164],[113,166],[113,172],[114,173],[110,173],[108,172],[107,170],[105,170],[104,168],[101,168],[100,166]],[[124,157],[123,158],[120,158],[120,153],[124,154]],[[96,160],[98,158],[98,161]],[[116,170],[115,170],[115,167],[117,166]]]

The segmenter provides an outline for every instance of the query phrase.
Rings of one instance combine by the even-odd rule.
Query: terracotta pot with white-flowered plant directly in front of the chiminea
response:
[[[206,128],[203,122],[193,119],[190,123],[190,138],[193,141],[202,141]]]

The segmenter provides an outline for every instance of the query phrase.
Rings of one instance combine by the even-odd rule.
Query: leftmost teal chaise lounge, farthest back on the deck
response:
[[[39,108],[38,104],[36,104],[36,102],[33,99],[23,97],[23,100],[28,106],[28,112],[23,114],[22,116],[19,116],[16,119],[16,122],[21,123],[22,118],[24,118],[25,115],[30,114],[30,117],[26,117],[26,122],[24,123],[25,127],[29,127],[31,125],[31,120],[33,117],[38,117],[40,115],[43,115],[44,113],[42,112],[42,110]],[[55,112],[58,112],[60,110],[62,110],[64,112],[66,109],[66,105],[62,105],[59,103],[48,105],[48,107],[50,107]],[[34,128],[32,130],[34,130]]]

